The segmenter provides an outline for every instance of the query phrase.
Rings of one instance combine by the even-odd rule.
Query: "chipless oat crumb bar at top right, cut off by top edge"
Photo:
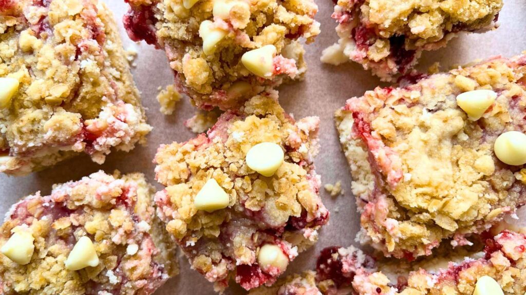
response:
[[[382,80],[408,73],[422,51],[436,50],[462,32],[497,27],[502,0],[339,0],[332,18],[338,43],[323,51],[321,61],[348,60]]]

